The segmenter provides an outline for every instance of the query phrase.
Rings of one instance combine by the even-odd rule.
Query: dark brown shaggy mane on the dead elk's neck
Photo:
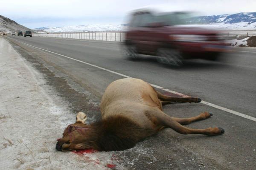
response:
[[[125,150],[134,147],[147,131],[123,116],[110,116],[90,125],[87,144],[97,150]]]

